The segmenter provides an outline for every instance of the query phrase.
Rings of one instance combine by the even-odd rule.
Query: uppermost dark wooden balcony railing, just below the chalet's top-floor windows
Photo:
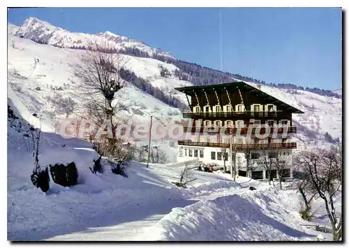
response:
[[[183,118],[276,118],[283,116],[283,111],[233,111],[233,112],[184,112]]]

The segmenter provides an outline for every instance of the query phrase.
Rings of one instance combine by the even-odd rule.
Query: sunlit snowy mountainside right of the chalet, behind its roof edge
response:
[[[257,87],[256,84],[248,84]],[[258,89],[304,111],[304,114],[292,115],[292,122],[297,127],[294,137],[299,149],[304,150],[307,146],[329,146],[324,139],[326,132],[334,139],[342,140],[342,99],[265,85]]]

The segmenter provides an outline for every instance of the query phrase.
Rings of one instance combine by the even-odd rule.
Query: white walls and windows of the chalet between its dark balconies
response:
[[[251,127],[274,127],[274,134],[271,133],[270,135],[272,138],[268,138],[269,136],[265,136],[264,138],[260,137],[258,135],[259,139],[255,139],[256,135],[251,134],[251,132],[248,131],[247,136],[250,138],[246,138],[246,134],[242,134],[241,136],[238,134],[239,128],[246,127],[244,120],[236,120],[236,121],[230,121],[230,120],[202,120],[201,127],[237,127],[238,133],[235,134],[235,136],[232,139],[232,144],[282,144],[282,143],[288,143],[290,141],[290,133],[288,133],[287,127],[290,127],[290,120],[273,120],[272,117],[270,120],[266,120],[264,123],[261,123],[260,120],[258,120],[258,117],[256,116],[256,120],[253,119],[253,113],[258,111],[276,111],[276,105],[274,104],[251,104],[251,119],[249,120],[249,126]],[[232,106],[230,104],[223,105],[223,109],[219,105],[209,106],[206,105],[201,110],[200,106],[194,106],[193,112],[221,112],[221,111],[235,111],[235,112],[244,112],[246,111],[244,104],[237,104],[235,106]],[[283,127],[283,133],[278,132],[278,128]],[[258,131],[256,130],[256,133]],[[250,136],[251,135],[251,136]],[[193,142],[204,142],[204,143],[218,143],[218,144],[227,144],[227,147],[229,147],[230,144],[230,137],[227,135],[223,136],[217,136],[217,135],[205,135],[200,134],[199,136],[193,135],[191,137],[191,141]],[[178,146],[178,156],[177,160],[178,162],[184,162],[188,160],[198,160],[202,162],[203,164],[216,164],[218,166],[223,167],[224,160],[223,160],[223,153],[228,153],[228,160],[225,161],[225,166],[230,171],[230,164],[231,164],[231,156],[229,153],[229,148],[214,148],[209,146],[188,146],[188,145],[179,145]],[[290,169],[289,176],[292,178],[292,159],[291,149],[277,149],[277,150],[253,150],[253,159],[250,160],[253,166],[253,175],[251,171],[246,172],[246,157],[245,153],[237,153],[236,156],[236,168],[237,170],[241,171],[242,173],[246,173],[246,176],[251,178],[258,178],[258,179],[266,179],[269,178],[269,175],[267,175],[267,171],[265,169],[265,166],[263,166],[263,163],[269,160],[269,153],[279,153],[281,157],[283,157],[283,160],[287,160],[286,162],[286,169]],[[257,155],[258,154],[258,155]],[[267,155],[267,160],[265,160],[265,157]],[[258,157],[258,158],[257,158]],[[272,174],[273,177],[278,177],[276,173],[276,168],[272,168]],[[245,172],[244,172],[245,171]],[[276,173],[276,174],[275,174]],[[257,179],[256,178],[256,179]]]

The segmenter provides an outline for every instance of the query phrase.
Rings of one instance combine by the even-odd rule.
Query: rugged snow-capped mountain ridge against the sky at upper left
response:
[[[96,33],[95,35],[88,33],[70,33],[69,31],[34,17],[29,17],[25,20],[23,24],[18,27],[15,35],[56,47],[87,48],[94,45],[95,42],[98,42],[109,49],[123,49],[125,47],[137,48],[142,52],[147,52],[149,55],[161,54],[174,58],[171,54],[161,51],[161,49],[149,47],[143,42],[119,36],[109,31],[105,33]]]

